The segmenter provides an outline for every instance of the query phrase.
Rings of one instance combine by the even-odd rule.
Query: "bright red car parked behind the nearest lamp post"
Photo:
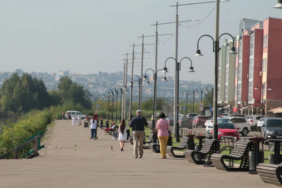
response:
[[[218,140],[221,139],[221,136],[233,136],[236,137],[237,140],[239,140],[240,135],[238,132],[239,128],[237,128],[232,123],[218,123]],[[212,130],[212,135],[214,133],[214,130]]]

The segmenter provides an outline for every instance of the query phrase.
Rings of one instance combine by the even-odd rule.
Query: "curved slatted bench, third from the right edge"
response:
[[[213,139],[206,139],[200,151],[186,150],[184,152],[184,156],[185,158],[187,158],[189,162],[192,162],[195,164],[204,164],[206,161],[201,160],[201,159],[196,159],[195,155],[198,155],[198,156],[209,155],[208,158],[210,158],[211,155],[214,154],[217,150],[219,150],[219,142]]]

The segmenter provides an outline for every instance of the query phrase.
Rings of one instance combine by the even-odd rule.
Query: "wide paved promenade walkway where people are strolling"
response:
[[[58,120],[49,136],[38,157],[0,160],[0,187],[276,187],[257,174],[225,172],[169,156],[162,160],[151,150],[134,159],[130,143],[120,152],[119,141],[100,128],[99,140],[91,141],[90,129]]]

